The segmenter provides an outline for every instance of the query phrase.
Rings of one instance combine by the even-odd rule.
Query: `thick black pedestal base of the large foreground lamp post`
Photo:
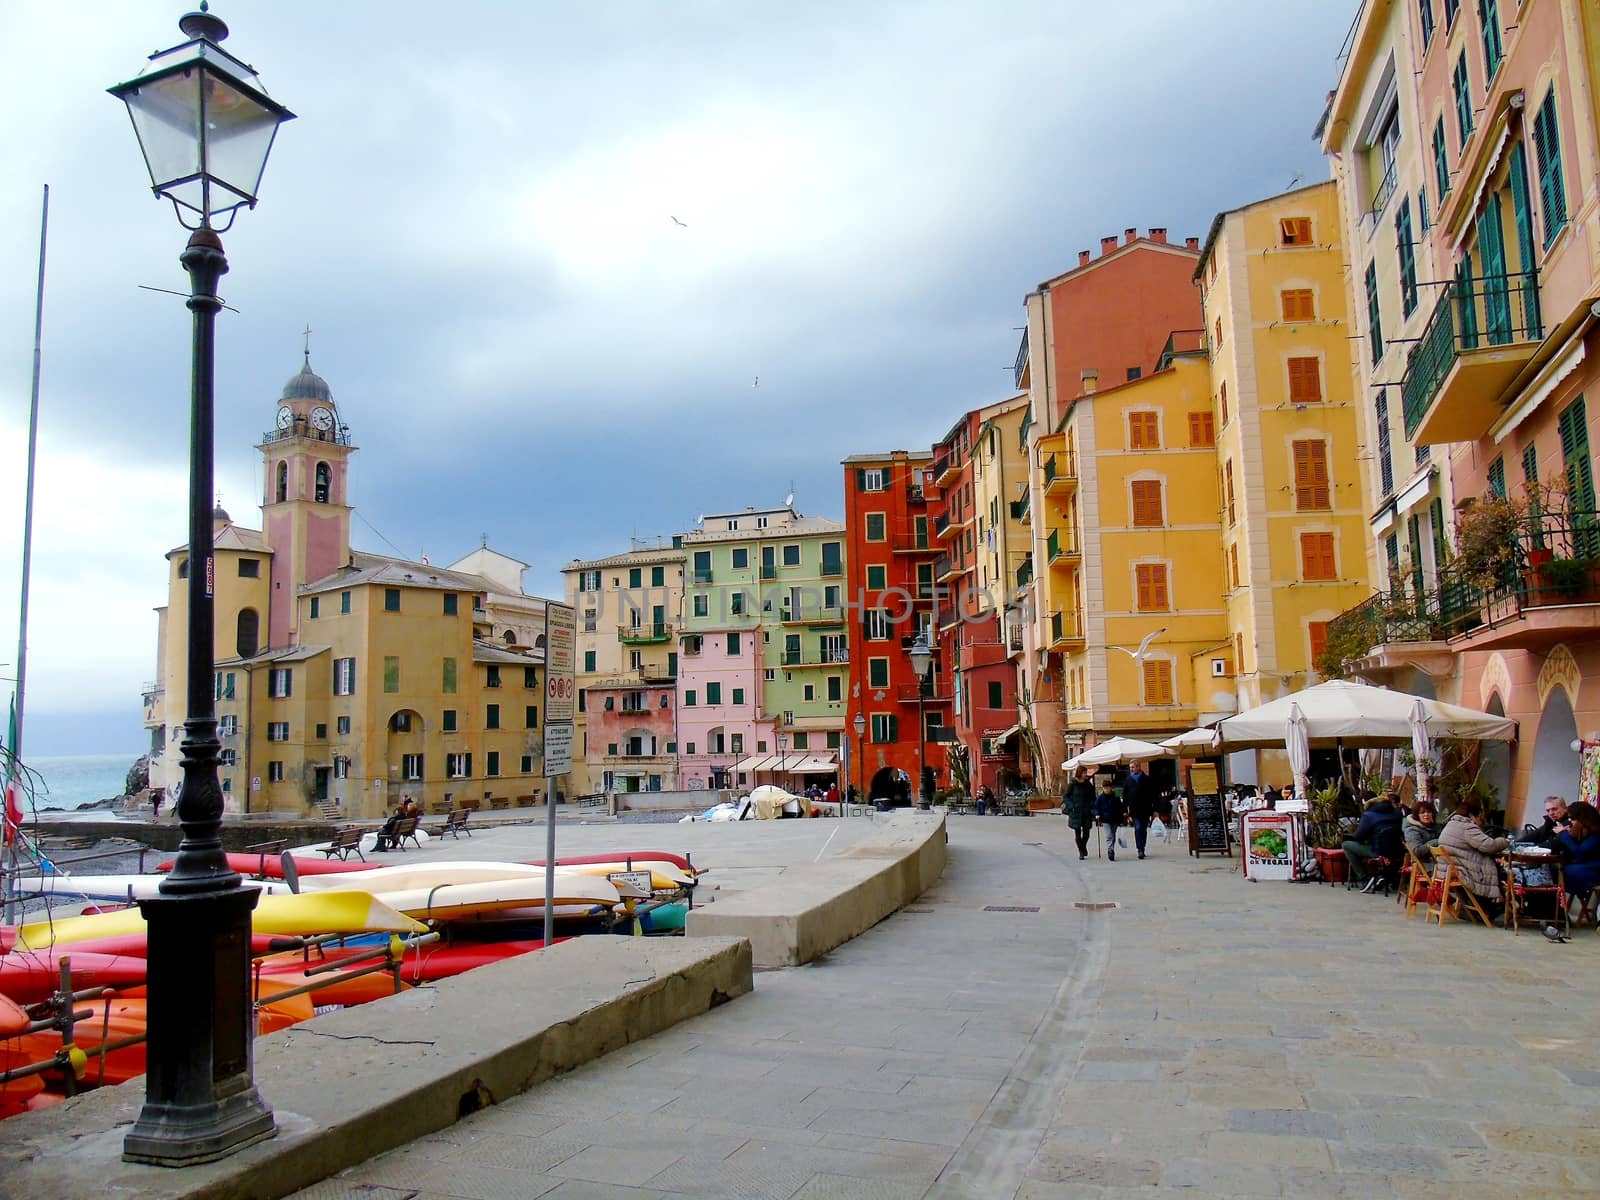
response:
[[[251,1072],[250,914],[259,898],[235,886],[139,901],[150,949],[149,1069],[125,1162],[194,1166],[277,1133]]]

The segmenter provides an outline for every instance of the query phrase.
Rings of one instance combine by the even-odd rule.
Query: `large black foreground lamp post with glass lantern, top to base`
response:
[[[194,230],[179,256],[189,272],[194,366],[189,406],[189,678],[178,821],[184,837],[160,894],[139,901],[149,928],[149,1026],[144,1109],[122,1157],[158,1166],[224,1158],[275,1133],[256,1091],[250,1000],[250,914],[261,893],[242,888],[222,853],[213,699],[211,475],[218,280],[222,240],[256,187],[280,123],[294,114],[269,99],[221,48],[227,26],[186,14],[182,45],[150,56],[138,78],[110,90],[128,106],[157,197]]]

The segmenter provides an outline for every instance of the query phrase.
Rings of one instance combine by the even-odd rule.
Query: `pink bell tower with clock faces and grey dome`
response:
[[[333,574],[350,557],[350,430],[339,421],[328,382],[310,370],[283,384],[261,445],[261,533],[272,547],[269,646],[299,642],[296,590]]]

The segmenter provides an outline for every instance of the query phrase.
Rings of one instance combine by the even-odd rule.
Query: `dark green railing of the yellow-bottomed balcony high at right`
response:
[[[1451,368],[1464,354],[1514,342],[1536,342],[1542,336],[1538,272],[1446,283],[1434,306],[1434,315],[1427,320],[1427,328],[1406,358],[1405,379],[1400,382],[1406,437],[1416,435]]]

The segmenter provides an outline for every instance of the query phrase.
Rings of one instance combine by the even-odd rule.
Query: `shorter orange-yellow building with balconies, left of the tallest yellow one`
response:
[[[1040,566],[1069,739],[1214,718],[1224,642],[1210,371],[1198,336],[1067,410],[1043,467]]]

